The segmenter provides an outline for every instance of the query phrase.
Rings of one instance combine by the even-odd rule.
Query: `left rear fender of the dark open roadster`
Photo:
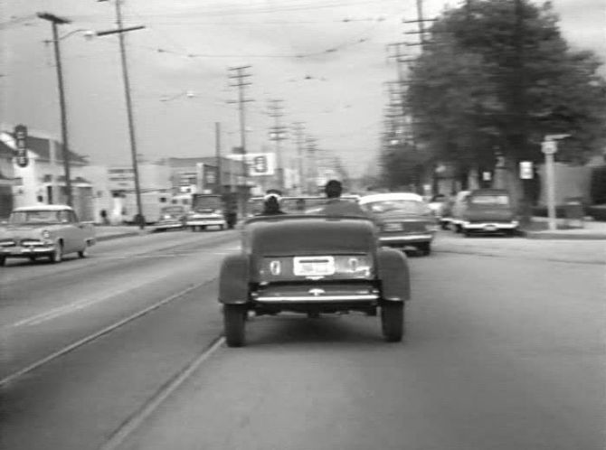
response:
[[[223,259],[219,275],[219,302],[245,304],[249,300],[250,259],[241,253]]]

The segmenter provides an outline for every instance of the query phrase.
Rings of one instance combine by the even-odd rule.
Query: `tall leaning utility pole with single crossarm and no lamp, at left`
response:
[[[106,1],[106,0],[98,0]],[[139,228],[143,230],[145,228],[145,217],[143,216],[143,208],[141,205],[141,188],[139,185],[139,173],[137,166],[137,140],[135,138],[135,120],[133,117],[132,98],[130,97],[130,82],[128,80],[128,65],[127,65],[127,52],[124,44],[124,33],[128,33],[135,30],[141,30],[145,28],[143,25],[130,26],[124,28],[122,26],[122,9],[120,7],[122,0],[116,0],[116,23],[118,28],[116,30],[108,30],[95,33],[97,36],[106,36],[108,34],[118,33],[118,41],[120,45],[120,61],[122,62],[122,79],[124,82],[124,96],[127,103],[127,117],[128,117],[128,137],[130,140],[130,155],[133,164],[133,177],[135,182],[135,195],[137,197],[137,221]]]

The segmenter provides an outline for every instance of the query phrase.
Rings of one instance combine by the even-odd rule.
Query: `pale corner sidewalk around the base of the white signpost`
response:
[[[533,217],[530,227],[520,233],[528,239],[606,239],[606,222],[603,221],[583,220],[582,228],[567,227],[565,219],[556,219],[555,223],[557,230],[549,230],[546,217]]]

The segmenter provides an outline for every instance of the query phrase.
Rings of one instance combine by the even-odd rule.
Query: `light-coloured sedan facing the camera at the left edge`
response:
[[[6,258],[49,258],[62,261],[69,253],[86,257],[95,244],[92,222],[80,222],[66,205],[40,205],[15,208],[0,227],[0,266]]]

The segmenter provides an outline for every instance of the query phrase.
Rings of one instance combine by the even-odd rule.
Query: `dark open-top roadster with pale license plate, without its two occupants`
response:
[[[372,220],[283,214],[244,222],[241,251],[223,259],[219,302],[225,340],[245,343],[249,312],[317,317],[381,311],[385,340],[402,340],[410,298],[405,255],[381,248]]]

